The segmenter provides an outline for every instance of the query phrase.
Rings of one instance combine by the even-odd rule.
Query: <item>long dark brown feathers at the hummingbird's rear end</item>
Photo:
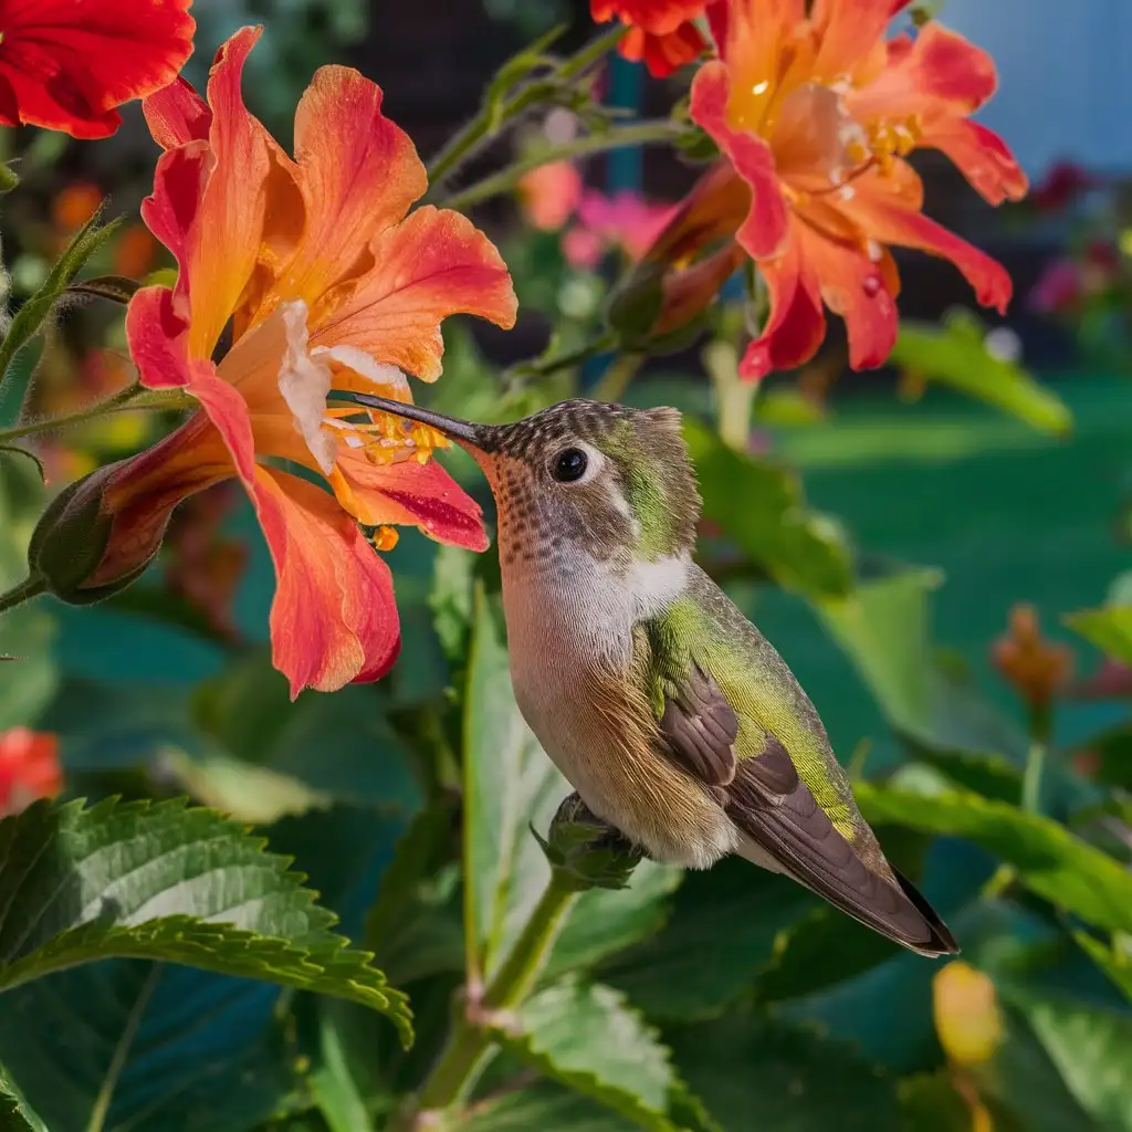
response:
[[[726,788],[728,814],[746,835],[737,851],[782,873],[867,927],[921,955],[959,951],[946,925],[911,882],[880,857],[866,860],[837,829],[772,740],[739,763]]]

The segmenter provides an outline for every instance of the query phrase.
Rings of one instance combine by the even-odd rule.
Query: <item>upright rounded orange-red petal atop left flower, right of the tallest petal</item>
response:
[[[412,140],[381,113],[381,97],[352,68],[323,67],[300,100],[295,175],[307,223],[280,298],[314,307],[333,283],[368,268],[368,245],[428,188]]]

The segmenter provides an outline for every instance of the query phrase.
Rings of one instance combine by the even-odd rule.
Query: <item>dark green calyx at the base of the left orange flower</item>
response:
[[[123,463],[100,468],[63,488],[32,533],[27,548],[32,576],[69,604],[93,604],[125,590],[161,548],[168,511],[131,531],[128,540],[112,539],[115,517],[104,501]]]

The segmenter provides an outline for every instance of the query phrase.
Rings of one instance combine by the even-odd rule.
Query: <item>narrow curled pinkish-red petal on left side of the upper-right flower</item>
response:
[[[762,259],[773,256],[787,238],[787,206],[770,147],[762,138],[728,125],[728,95],[724,65],[704,63],[692,83],[692,120],[711,135],[751,187],[749,211],[736,239],[755,259]]]

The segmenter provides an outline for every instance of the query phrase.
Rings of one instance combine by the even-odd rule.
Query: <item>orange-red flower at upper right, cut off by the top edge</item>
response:
[[[897,334],[890,246],[951,259],[986,306],[1010,300],[998,264],[923,214],[923,185],[904,160],[940,149],[990,204],[1024,194],[1006,146],[969,120],[994,92],[994,63],[934,22],[915,40],[885,41],[908,2],[814,0],[808,16],[806,0],[707,9],[722,58],[696,74],[692,117],[726,164],[658,243],[677,261],[677,249],[734,234],[757,263],[770,316],[744,358],[748,378],[812,358],[824,307],[846,320],[852,367],[881,365]]]

